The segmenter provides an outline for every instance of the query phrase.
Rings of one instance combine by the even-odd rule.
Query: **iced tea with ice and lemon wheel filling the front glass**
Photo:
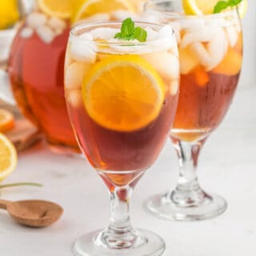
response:
[[[151,166],[166,141],[178,102],[178,54],[170,42],[162,49],[105,45],[101,30],[70,40],[66,101],[90,163],[121,186]]]

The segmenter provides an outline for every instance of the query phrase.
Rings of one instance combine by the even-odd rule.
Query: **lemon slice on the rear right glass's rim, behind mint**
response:
[[[183,9],[186,14],[213,14],[214,6],[219,2],[219,0],[182,0]],[[248,2],[243,0],[239,6],[240,17],[243,18],[246,14]]]

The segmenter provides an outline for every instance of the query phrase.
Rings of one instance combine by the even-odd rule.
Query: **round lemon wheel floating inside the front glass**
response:
[[[110,130],[130,132],[153,122],[165,86],[148,62],[136,55],[102,59],[86,75],[82,98],[90,118]]]

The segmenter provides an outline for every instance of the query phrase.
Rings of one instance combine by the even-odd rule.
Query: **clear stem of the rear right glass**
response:
[[[206,139],[199,142],[172,140],[178,154],[179,178],[176,189],[166,196],[179,206],[198,206],[208,198],[199,186],[197,175],[198,156]]]

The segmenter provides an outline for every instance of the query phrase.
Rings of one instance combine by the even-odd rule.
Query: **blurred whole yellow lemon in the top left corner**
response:
[[[17,0],[0,0],[0,30],[13,26],[19,18]]]

